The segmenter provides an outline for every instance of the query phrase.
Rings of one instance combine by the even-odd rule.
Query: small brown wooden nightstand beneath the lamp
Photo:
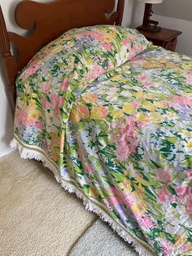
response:
[[[139,30],[146,39],[153,42],[155,46],[162,46],[169,51],[175,51],[177,46],[177,37],[181,35],[181,31],[172,30],[172,29],[164,29],[161,28],[159,32],[151,33],[147,31]]]

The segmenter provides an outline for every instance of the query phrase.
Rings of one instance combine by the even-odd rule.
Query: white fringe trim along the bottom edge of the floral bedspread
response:
[[[57,170],[54,164],[51,164],[51,162],[48,160],[48,158],[45,157],[43,153],[35,151],[36,147],[34,147],[34,150],[33,150],[33,147],[31,146],[30,148],[32,149],[24,148],[24,146],[22,146],[16,139],[12,139],[10,143],[10,147],[12,149],[19,149],[21,158],[35,159],[37,161],[42,161],[43,165],[48,169],[50,169],[55,174],[55,179],[57,180],[57,182],[61,183],[62,187],[65,190],[67,190],[70,193],[75,193],[78,198],[81,198],[81,200],[83,201],[83,204],[85,205],[86,210],[89,210],[94,212],[95,214],[98,214],[99,218],[109,223],[113,231],[117,232],[117,234],[121,236],[124,239],[124,241],[127,241],[130,245],[132,245],[139,255],[141,256],[155,255],[155,254],[151,254],[144,247],[142,247],[142,241],[141,243],[138,243],[132,236],[129,236],[127,232],[124,232],[122,228],[120,228],[119,224],[117,224],[114,220],[112,220],[98,206],[94,205],[94,203],[90,201],[89,198],[86,197],[85,194],[81,192],[80,189],[76,188],[71,183],[68,183],[67,181],[63,180],[62,177],[59,176],[59,170]],[[38,150],[39,149],[40,148],[38,148]],[[149,246],[149,245],[146,245],[146,246]]]

